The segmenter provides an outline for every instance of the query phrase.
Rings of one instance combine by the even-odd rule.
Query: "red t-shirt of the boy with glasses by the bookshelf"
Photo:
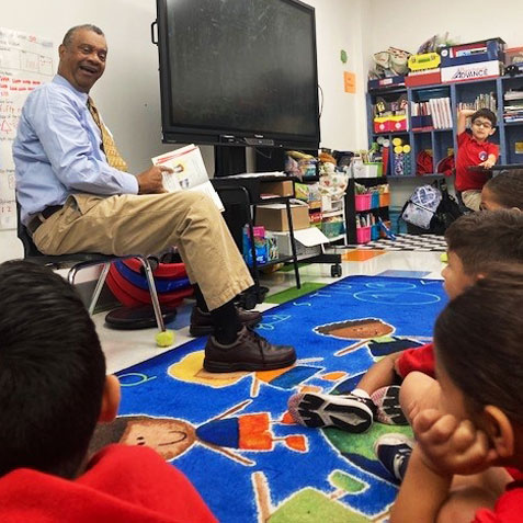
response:
[[[470,166],[479,166],[489,155],[499,156],[499,147],[489,141],[479,143],[474,136],[464,130],[457,137],[457,161],[456,161],[456,190],[481,191],[490,172],[470,171]]]

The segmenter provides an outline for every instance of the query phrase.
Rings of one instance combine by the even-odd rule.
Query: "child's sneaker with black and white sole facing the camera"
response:
[[[295,394],[288,399],[288,411],[296,423],[306,427],[336,427],[345,432],[365,432],[374,421],[376,407],[369,398],[350,394]]]

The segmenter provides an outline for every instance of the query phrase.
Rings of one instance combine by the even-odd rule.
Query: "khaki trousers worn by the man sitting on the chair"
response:
[[[175,246],[212,310],[253,285],[220,212],[205,194],[75,194],[33,235],[44,254],[155,254]]]

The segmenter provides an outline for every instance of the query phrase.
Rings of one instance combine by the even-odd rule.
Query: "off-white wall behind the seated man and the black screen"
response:
[[[150,43],[155,0],[18,0],[4,2],[2,27],[38,34],[56,48],[72,25],[93,23],[106,35],[107,67],[92,96],[113,132],[132,172],[141,172],[150,158],[172,148],[161,144],[158,54]],[[361,53],[363,16],[369,0],[309,0],[316,8],[319,83],[323,90],[322,145],[346,150],[366,146],[364,81]],[[45,22],[44,22],[45,21]],[[343,65],[340,50],[349,61]],[[56,67],[56,66],[55,66]],[[343,71],[354,71],[356,94],[343,91]],[[211,147],[202,147],[209,174],[214,171]],[[22,255],[13,230],[0,231],[0,262]]]

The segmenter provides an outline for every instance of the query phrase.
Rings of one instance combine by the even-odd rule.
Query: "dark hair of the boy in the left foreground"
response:
[[[0,476],[78,473],[100,416],[105,359],[75,289],[47,268],[0,264]]]

